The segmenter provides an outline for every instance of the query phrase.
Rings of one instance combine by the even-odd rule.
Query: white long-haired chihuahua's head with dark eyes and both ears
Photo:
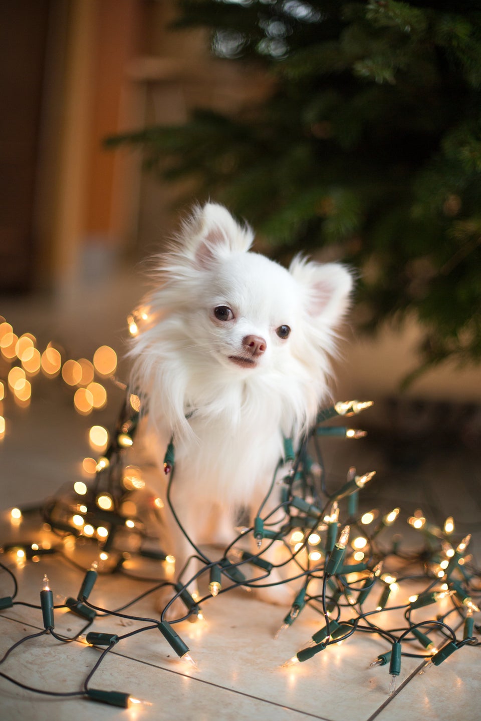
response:
[[[351,288],[348,271],[299,259],[286,270],[248,252],[252,236],[246,243],[246,231],[219,205],[203,208],[202,220],[184,312],[189,339],[214,370],[220,363],[242,378],[288,376],[309,363],[313,345],[329,353],[328,332]]]

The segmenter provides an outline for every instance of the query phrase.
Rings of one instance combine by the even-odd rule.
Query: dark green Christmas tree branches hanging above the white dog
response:
[[[358,317],[409,315],[420,369],[481,359],[481,6],[439,0],[180,0],[177,30],[259,63],[272,93],[107,144],[144,148],[261,232],[270,255],[323,247],[358,267]],[[265,247],[263,248],[266,249]]]

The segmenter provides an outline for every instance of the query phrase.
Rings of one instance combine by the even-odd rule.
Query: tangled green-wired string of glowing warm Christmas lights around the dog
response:
[[[129,318],[131,333],[138,332],[138,323],[147,319],[146,310],[138,311]],[[2,353],[4,348],[11,350],[13,345],[13,340],[9,338],[13,331],[5,328],[2,331],[5,323],[0,325]],[[4,341],[5,335],[8,343]],[[15,342],[16,358],[21,365],[24,363],[22,348],[17,348],[17,344],[22,337],[17,337]],[[4,345],[1,345],[2,340]],[[28,347],[35,349],[35,344]],[[48,348],[53,348],[53,345]],[[41,363],[43,356],[40,352],[39,355]],[[64,366],[68,362],[65,361]],[[12,370],[14,368],[19,366],[12,366]],[[97,366],[94,365],[94,368]],[[60,368],[58,373],[61,373]],[[16,387],[10,381],[9,385],[13,389]],[[383,538],[389,535],[387,529],[399,522],[400,508],[386,513],[376,508],[363,513],[359,510],[362,491],[374,478],[374,472],[358,474],[356,469],[350,468],[343,485],[335,489],[328,488],[331,484],[327,482],[322,464],[319,439],[328,439],[333,435],[361,438],[364,433],[358,429],[325,423],[331,419],[357,415],[370,405],[371,402],[358,401],[337,403],[319,411],[317,424],[298,448],[293,447],[291,439],[285,439],[284,457],[273,469],[273,483],[269,490],[269,495],[278,497],[278,504],[269,513],[262,515],[266,497],[257,510],[252,526],[239,528],[238,535],[220,557],[211,558],[198,548],[195,541],[190,539],[188,528],[183,528],[179,519],[179,525],[193,547],[193,557],[200,559],[201,567],[193,578],[187,579],[187,562],[175,583],[169,580],[172,579],[175,558],[159,547],[158,538],[151,530],[162,513],[164,503],[169,504],[175,515],[170,497],[170,490],[175,484],[175,439],[166,449],[164,472],[169,482],[167,497],[160,499],[151,496],[146,490],[141,469],[125,463],[125,453],[134,443],[142,407],[141,396],[127,390],[115,430],[108,440],[104,438],[100,446],[102,453],[93,461],[95,476],[92,482],[88,485],[75,482],[71,492],[53,497],[42,508],[14,508],[10,512],[12,523],[17,525],[28,514],[33,516],[41,513],[53,541],[32,542],[28,539],[22,543],[4,544],[1,549],[6,562],[0,563],[0,568],[14,588],[12,596],[0,598],[0,611],[17,604],[36,609],[41,613],[43,630],[12,645],[0,659],[0,665],[19,645],[35,642],[44,635],[51,635],[66,643],[95,645],[103,649],[102,653],[81,689],[76,691],[63,693],[35,689],[1,670],[0,676],[22,689],[51,696],[74,696],[120,707],[138,704],[141,701],[130,694],[90,686],[94,673],[112,648],[133,634],[160,632],[182,663],[196,668],[189,647],[173,626],[185,619],[201,619],[206,603],[221,602],[213,599],[231,590],[255,590],[281,583],[296,586],[296,593],[275,637],[281,632],[287,632],[306,607],[319,614],[320,626],[306,645],[297,650],[284,666],[304,663],[323,651],[329,653],[331,645],[356,634],[376,634],[386,643],[387,651],[373,660],[371,666],[374,668],[389,664],[389,693],[392,694],[400,676],[402,657],[420,658],[425,660],[426,667],[432,667],[440,665],[449,655],[466,645],[479,645],[474,634],[480,632],[481,627],[475,624],[473,614],[479,611],[480,570],[477,570],[469,554],[470,536],[454,541],[453,518],[446,518],[444,528],[438,528],[423,516],[421,510],[415,510],[407,518],[407,523],[418,532],[423,547],[415,552],[405,552],[400,549],[399,540],[395,536],[383,542]],[[281,482],[276,482],[281,468],[287,470]],[[273,516],[281,511],[283,521],[273,523]],[[241,543],[250,536],[252,548],[256,550],[247,551]],[[82,567],[74,559],[76,548],[85,541],[95,549],[95,559],[88,568]],[[268,560],[266,552],[271,547],[281,547],[287,558],[277,563]],[[69,562],[82,570],[84,575],[79,592],[67,597],[63,604],[54,606],[53,594],[45,578],[38,605],[18,601],[17,579],[7,562],[12,562],[12,559],[22,563],[38,562],[40,557],[48,554],[56,554],[60,562]],[[133,572],[133,559],[136,560],[136,572]],[[152,579],[152,588],[118,609],[105,609],[89,600],[101,574],[121,573],[146,580],[146,576],[138,573],[139,564],[143,560],[156,562],[162,569],[164,580]],[[283,570],[286,578],[270,580],[274,570]],[[208,583],[206,596],[190,594],[188,588],[197,578],[204,578]],[[389,605],[392,597],[398,598],[402,587],[413,581],[423,583],[420,593],[406,598],[404,603]],[[141,598],[163,586],[171,588],[172,598],[159,617],[146,618],[125,613]],[[168,611],[177,598],[185,606],[185,614],[167,621]],[[373,598],[376,598],[374,608]],[[439,604],[444,604],[445,609],[446,603],[449,604],[449,610],[444,610],[443,614],[438,613],[432,619],[418,620],[418,609],[435,605],[439,609]],[[54,626],[55,609],[68,609],[69,613],[85,622],[84,626],[72,637],[58,634]],[[397,610],[404,611],[405,625],[386,628],[384,619],[389,618],[391,611]],[[97,619],[109,616],[130,619],[143,625],[120,636],[89,631]],[[454,621],[450,619],[447,624],[446,619],[449,617]],[[457,634],[461,630],[462,638],[458,638]]]

